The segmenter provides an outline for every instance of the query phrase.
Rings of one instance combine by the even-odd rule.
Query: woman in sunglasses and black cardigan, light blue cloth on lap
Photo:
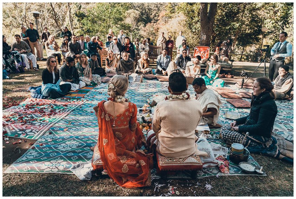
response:
[[[59,69],[55,56],[49,56],[46,60],[46,69],[42,72],[41,93],[49,98],[56,99],[65,96],[70,90],[70,84],[59,85]]]

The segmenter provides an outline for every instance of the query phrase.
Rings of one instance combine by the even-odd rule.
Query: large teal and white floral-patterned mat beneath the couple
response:
[[[168,82],[146,80],[143,83],[133,82],[129,84],[126,97],[138,107],[143,106],[148,100],[160,101],[167,91]],[[227,88],[241,91],[231,85]],[[194,97],[192,85],[189,85],[189,93]],[[238,112],[241,116],[249,113],[250,109],[237,109],[219,96],[223,104],[220,107],[218,123],[228,124],[232,120],[225,118],[225,111]],[[93,107],[107,99],[107,84],[101,83],[90,90],[83,98],[86,100],[66,117],[52,126],[22,157],[15,161],[4,173],[67,173],[69,168],[78,162],[91,161],[93,152],[89,150],[94,146],[98,137],[97,118]],[[247,99],[250,101],[250,99]],[[293,140],[293,101],[276,101],[278,115],[274,124],[274,131],[281,136]],[[219,129],[211,129],[218,134]],[[225,146],[222,140],[209,140]],[[40,145],[42,143],[42,145]],[[259,164],[250,156],[249,163],[254,166]],[[198,171],[198,177],[218,175],[253,175],[245,174],[237,164],[230,163],[230,174],[222,174],[218,168],[207,168]],[[152,177],[158,178],[156,170],[152,170]],[[168,178],[190,178],[186,172],[177,172]]]

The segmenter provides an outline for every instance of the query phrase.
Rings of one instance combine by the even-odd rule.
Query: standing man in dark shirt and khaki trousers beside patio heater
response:
[[[29,23],[30,28],[26,31],[26,36],[30,44],[30,48],[32,50],[32,54],[35,55],[35,49],[37,50],[37,60],[41,60],[41,51],[39,46],[39,33],[36,29],[34,29],[34,24]]]

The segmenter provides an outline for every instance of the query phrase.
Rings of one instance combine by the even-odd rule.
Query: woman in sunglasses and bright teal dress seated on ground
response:
[[[217,62],[218,56],[216,54],[212,55],[211,61],[207,64],[207,68],[205,69],[205,76],[202,76],[202,79],[205,80],[206,85],[224,87],[224,81],[218,78],[221,65]]]

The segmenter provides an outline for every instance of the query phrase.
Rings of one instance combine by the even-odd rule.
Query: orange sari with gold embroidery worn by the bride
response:
[[[146,139],[137,124],[137,107],[129,102],[126,109],[115,117],[105,111],[103,103],[94,110],[98,118],[98,147],[103,167],[121,187],[144,187],[151,185],[149,159],[139,150]],[[96,165],[93,164],[94,170]]]

